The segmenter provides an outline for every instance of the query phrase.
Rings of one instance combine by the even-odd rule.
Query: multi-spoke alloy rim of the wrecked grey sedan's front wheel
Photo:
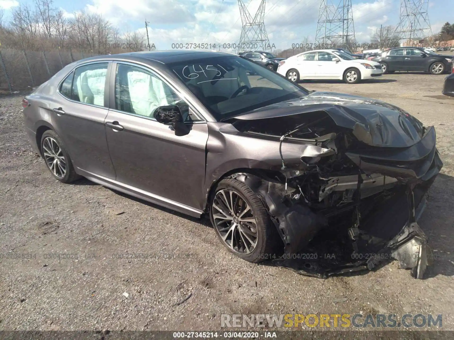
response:
[[[246,201],[231,189],[221,189],[216,193],[212,209],[215,228],[227,247],[240,254],[254,251],[257,222]]]

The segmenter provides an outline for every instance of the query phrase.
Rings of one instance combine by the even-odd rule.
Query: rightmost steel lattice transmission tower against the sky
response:
[[[432,29],[429,22],[429,0],[400,0],[400,21],[395,34],[405,43],[418,44],[429,36],[432,38]]]

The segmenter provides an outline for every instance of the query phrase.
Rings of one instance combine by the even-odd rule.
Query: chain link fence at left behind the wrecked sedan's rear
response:
[[[0,91],[13,93],[31,90],[49,80],[66,65],[95,55],[98,54],[73,52],[71,49],[0,49]]]

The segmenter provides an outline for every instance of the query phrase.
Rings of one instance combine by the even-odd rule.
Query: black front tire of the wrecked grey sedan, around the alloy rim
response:
[[[215,208],[213,207],[213,204],[217,202],[215,200],[216,195],[221,193],[223,189],[233,191],[241,199],[244,200],[243,203],[247,203],[247,205],[249,205],[250,207],[252,218],[255,219],[255,224],[257,226],[256,245],[250,253],[240,253],[239,251],[233,250],[232,248],[234,247],[229,247],[229,245],[222,239],[221,232],[219,231],[219,229],[225,229],[225,226],[227,224],[218,223],[217,226],[215,223],[215,218],[213,216],[213,210],[215,210]],[[228,192],[227,190],[225,192]],[[218,210],[215,211],[217,212]],[[217,234],[217,237],[224,245],[224,247],[227,248],[229,252],[242,258],[243,260],[258,263],[266,259],[273,258],[274,256],[276,258],[279,257],[280,253],[276,253],[276,251],[279,252],[279,250],[281,250],[279,247],[280,245],[282,246],[281,248],[283,248],[281,237],[279,236],[275,225],[272,223],[270,217],[268,216],[268,212],[262,200],[244,182],[234,178],[226,178],[221,180],[217,184],[216,190],[210,200],[210,220]],[[234,222],[232,221],[232,223]],[[226,234],[229,234],[229,232],[227,232]],[[233,237],[231,243],[233,243]]]

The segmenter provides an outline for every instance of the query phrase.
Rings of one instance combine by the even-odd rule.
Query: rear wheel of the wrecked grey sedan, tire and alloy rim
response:
[[[41,153],[50,173],[60,182],[70,183],[80,177],[74,170],[63,141],[55,131],[44,132],[41,137]]]

